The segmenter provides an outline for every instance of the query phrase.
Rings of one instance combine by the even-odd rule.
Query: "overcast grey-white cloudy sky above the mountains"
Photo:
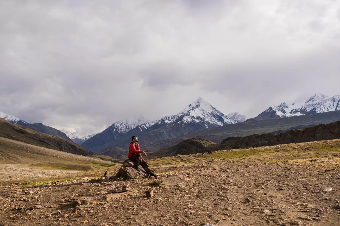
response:
[[[340,94],[340,0],[0,1],[0,111],[99,132]]]

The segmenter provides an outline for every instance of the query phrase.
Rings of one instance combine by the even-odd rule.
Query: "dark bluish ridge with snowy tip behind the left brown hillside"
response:
[[[63,137],[64,139],[67,139],[69,141],[72,141],[70,138],[68,138],[68,136],[66,136],[65,133],[61,132],[60,130],[54,129],[50,126],[45,126],[41,123],[27,123],[26,121],[23,121],[13,115],[8,115],[5,114],[3,112],[0,112],[0,118],[3,118],[7,121],[9,121],[12,124],[16,124],[16,125],[20,125],[20,126],[24,126],[26,128],[30,128],[31,130],[40,132],[40,133],[47,133],[47,134],[51,134],[53,136],[60,136]]]

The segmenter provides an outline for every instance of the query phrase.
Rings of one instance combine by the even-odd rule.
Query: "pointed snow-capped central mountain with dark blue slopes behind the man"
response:
[[[124,132],[127,132],[123,134],[116,133],[117,126],[112,129],[107,128],[82,145],[94,152],[100,152],[112,147],[128,148],[132,135],[137,135],[140,138],[140,144],[150,145],[160,140],[178,137],[182,133],[191,130],[235,123],[237,123],[236,120],[228,118],[222,112],[212,107],[210,103],[199,98],[177,114],[138,125],[130,130],[126,129]]]

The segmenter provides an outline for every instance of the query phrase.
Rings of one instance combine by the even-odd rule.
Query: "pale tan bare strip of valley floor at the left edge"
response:
[[[19,164],[0,164],[0,181],[18,180],[27,177],[56,177],[77,173],[75,170],[43,170]]]

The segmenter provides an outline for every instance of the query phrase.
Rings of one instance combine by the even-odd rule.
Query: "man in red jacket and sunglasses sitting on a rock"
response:
[[[145,160],[143,160],[142,153],[144,153],[145,155],[147,155],[147,153],[139,149],[138,137],[133,136],[131,137],[131,139],[132,139],[132,142],[130,143],[130,146],[129,146],[128,158],[129,160],[135,163],[134,168],[138,172],[140,172],[139,165],[141,165],[145,169],[145,171],[149,173],[149,176],[157,176],[156,174],[153,173],[148,163]]]

